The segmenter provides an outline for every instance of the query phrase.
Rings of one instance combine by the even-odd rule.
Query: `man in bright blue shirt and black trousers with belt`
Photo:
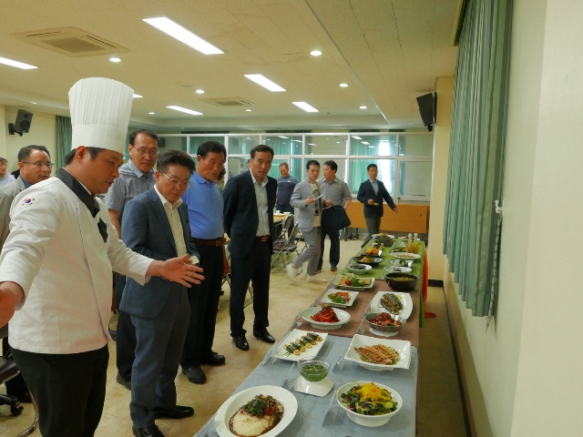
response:
[[[190,178],[191,187],[182,197],[189,208],[192,242],[199,251],[199,266],[205,278],[189,290],[189,330],[180,361],[182,373],[195,384],[207,381],[200,364],[218,366],[225,362],[223,355],[212,351],[212,342],[223,272],[229,272],[223,238],[222,190],[216,182],[226,159],[227,150],[222,144],[202,143],[197,150],[197,168]]]

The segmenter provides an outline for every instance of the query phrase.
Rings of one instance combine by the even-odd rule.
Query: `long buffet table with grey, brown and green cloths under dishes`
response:
[[[371,243],[372,244],[372,243]],[[420,245],[420,259],[413,263],[413,273],[420,278],[424,272],[424,246]],[[367,275],[375,278],[373,290],[361,291],[357,300],[352,307],[343,310],[351,314],[351,321],[346,323],[338,330],[318,330],[313,328],[309,323],[296,317],[292,322],[291,330],[310,330],[313,332],[326,332],[328,337],[322,345],[318,355],[324,356],[332,364],[332,370],[328,375],[334,383],[332,390],[323,397],[312,396],[292,389],[293,381],[299,376],[297,365],[293,361],[285,361],[272,357],[284,339],[276,343],[268,351],[261,363],[251,372],[249,377],[242,382],[235,393],[257,387],[261,385],[275,385],[288,389],[298,401],[298,412],[292,423],[283,430],[279,435],[282,437],[296,437],[300,435],[318,435],[319,437],[356,437],[361,435],[367,436],[385,436],[388,432],[392,436],[412,437],[415,435],[415,418],[417,406],[417,347],[419,344],[419,326],[423,319],[423,300],[421,299],[420,287],[410,293],[414,301],[414,311],[407,320],[403,329],[394,340],[409,340],[412,343],[411,348],[411,365],[409,369],[394,369],[393,371],[370,371],[364,369],[358,363],[347,361],[344,355],[348,350],[353,335],[363,334],[376,337],[368,330],[366,320],[363,320],[364,314],[370,311],[370,301],[378,291],[391,289],[386,285],[384,279],[383,267],[389,264],[389,257],[383,256],[384,262],[377,268],[370,270]],[[346,270],[347,271],[347,270]],[[423,283],[420,280],[420,283]],[[313,305],[320,305],[320,299],[326,293],[329,293],[330,285],[322,292]],[[380,338],[380,337],[379,337]],[[386,337],[382,337],[386,339]],[[402,410],[394,415],[390,422],[378,428],[365,428],[350,421],[335,400],[336,390],[343,384],[351,381],[375,381],[387,385],[397,391],[403,398]],[[217,437],[219,434],[215,430],[214,416],[210,421],[197,432],[196,437]]]

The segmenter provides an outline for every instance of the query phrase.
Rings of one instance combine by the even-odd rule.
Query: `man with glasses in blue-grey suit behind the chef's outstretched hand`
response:
[[[193,263],[199,262],[190,239],[189,211],[181,200],[193,172],[194,161],[184,152],[169,150],[159,156],[156,185],[124,208],[121,229],[128,248],[152,259],[189,253]],[[129,413],[137,437],[163,437],[155,419],[194,414],[191,407],[176,404],[174,385],[189,327],[187,290],[178,282],[159,278],[144,286],[126,280],[119,308],[128,312],[136,328]]]

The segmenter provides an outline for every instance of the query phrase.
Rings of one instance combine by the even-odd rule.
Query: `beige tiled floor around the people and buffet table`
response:
[[[360,248],[361,241],[342,241],[342,259],[345,264],[349,257]],[[328,244],[326,244],[328,249]],[[326,257],[324,257],[326,259]],[[324,261],[322,276],[332,279],[334,273]],[[296,282],[288,279],[281,264],[271,273],[270,323],[269,330],[276,339],[290,329],[292,320],[300,311],[308,308],[323,290],[321,284],[305,281],[305,273]],[[214,350],[227,357],[224,366],[203,366],[207,382],[201,385],[190,383],[179,373],[176,379],[178,401],[190,405],[195,415],[182,420],[159,420],[159,428],[167,437],[189,437],[199,431],[201,426],[218,410],[240,383],[254,369],[271,345],[248,335],[250,351],[239,351],[230,340],[229,330],[229,289],[225,285],[225,296],[220,299],[217,320],[217,334]],[[419,434],[421,436],[465,436],[461,397],[458,391],[455,361],[449,340],[449,328],[445,312],[445,300],[441,289],[430,289],[429,310],[437,313],[436,319],[427,320],[421,330],[420,338],[420,375],[419,375]],[[251,330],[253,312],[251,306],[245,310],[245,326]],[[115,324],[115,316],[112,326]],[[249,333],[249,332],[248,332]],[[107,371],[107,398],[104,412],[97,429],[97,437],[131,434],[128,403],[129,391],[116,382],[115,345],[110,344],[111,359]],[[0,388],[4,391],[4,387]],[[6,406],[0,407],[0,437],[18,435],[27,424],[32,422],[32,407],[26,405],[25,412],[19,417],[9,415]],[[33,435],[40,435],[36,431]]]

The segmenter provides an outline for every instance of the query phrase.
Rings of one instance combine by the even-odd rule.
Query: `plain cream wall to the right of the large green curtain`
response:
[[[446,275],[480,437],[583,433],[582,20],[582,2],[514,2],[499,296],[487,332]]]

